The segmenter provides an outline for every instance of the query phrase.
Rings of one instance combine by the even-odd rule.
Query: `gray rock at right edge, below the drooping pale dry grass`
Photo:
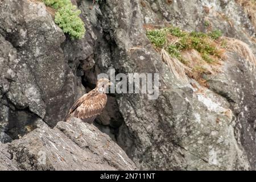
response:
[[[256,71],[255,65],[236,53],[229,53],[222,72],[209,77],[209,86],[230,104],[236,116],[236,138],[245,148],[251,166],[255,166]]]

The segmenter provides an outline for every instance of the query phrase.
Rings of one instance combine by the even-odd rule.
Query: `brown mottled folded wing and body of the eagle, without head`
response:
[[[106,94],[92,90],[75,102],[64,121],[69,117],[76,117],[84,122],[92,123],[97,115],[101,114],[102,110],[104,110],[106,101]]]

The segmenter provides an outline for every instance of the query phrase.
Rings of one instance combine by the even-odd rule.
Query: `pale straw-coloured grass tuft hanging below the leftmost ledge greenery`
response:
[[[188,82],[186,73],[191,72],[191,69],[180,63],[175,57],[171,57],[164,49],[161,50],[161,56],[164,63],[170,68],[170,71],[174,74],[177,80],[182,83]]]

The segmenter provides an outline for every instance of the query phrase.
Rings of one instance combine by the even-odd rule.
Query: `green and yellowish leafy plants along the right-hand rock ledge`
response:
[[[175,43],[169,43],[167,41],[167,35],[176,36],[178,40]],[[177,27],[162,28],[160,30],[152,30],[147,32],[147,37],[151,43],[157,48],[164,48],[172,57],[176,57],[180,61],[181,51],[188,49],[195,49],[199,52],[207,63],[214,63],[214,60],[210,57],[221,57],[221,52],[216,48],[217,40],[221,36],[221,31],[213,31],[205,34],[204,32],[184,32]]]

